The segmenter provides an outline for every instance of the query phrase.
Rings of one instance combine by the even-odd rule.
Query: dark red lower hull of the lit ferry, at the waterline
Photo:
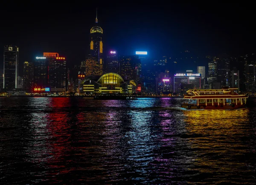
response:
[[[182,104],[181,108],[187,110],[198,110],[198,109],[239,109],[244,108],[245,104],[242,105],[188,105]]]

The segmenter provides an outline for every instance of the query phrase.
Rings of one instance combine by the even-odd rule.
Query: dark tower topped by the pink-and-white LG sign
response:
[[[116,51],[109,51],[105,64],[105,73],[119,74],[119,55]]]

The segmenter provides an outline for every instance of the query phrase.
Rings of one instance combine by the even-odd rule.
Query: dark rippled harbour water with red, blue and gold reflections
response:
[[[256,184],[256,99],[0,98],[0,184]]]

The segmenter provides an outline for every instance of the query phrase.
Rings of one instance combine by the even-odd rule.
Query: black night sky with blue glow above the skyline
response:
[[[67,57],[67,63],[79,64],[86,57],[98,7],[105,52],[148,51],[148,57],[155,59],[184,50],[197,56],[245,54],[255,50],[253,6],[85,2],[3,4],[0,46],[18,46],[20,63],[32,61],[43,52],[58,52]]]

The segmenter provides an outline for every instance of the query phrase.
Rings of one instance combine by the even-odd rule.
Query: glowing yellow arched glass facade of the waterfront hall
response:
[[[97,81],[97,83],[102,85],[121,85],[124,82],[122,77],[116,73],[103,74]]]

